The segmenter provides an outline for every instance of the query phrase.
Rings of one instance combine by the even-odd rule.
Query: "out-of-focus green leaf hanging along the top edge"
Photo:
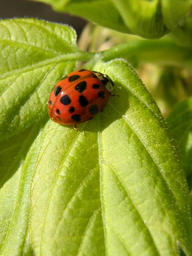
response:
[[[98,25],[145,38],[159,38],[176,28],[190,0],[36,0]]]

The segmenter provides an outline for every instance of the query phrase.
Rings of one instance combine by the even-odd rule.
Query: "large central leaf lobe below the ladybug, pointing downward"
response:
[[[102,115],[79,133],[45,126],[31,193],[34,249],[176,255],[179,241],[186,251],[187,189],[157,106],[126,62],[104,68],[121,89]]]

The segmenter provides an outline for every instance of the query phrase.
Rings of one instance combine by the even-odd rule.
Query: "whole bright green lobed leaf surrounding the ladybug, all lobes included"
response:
[[[180,246],[190,255],[178,152],[130,65],[97,55],[94,69],[119,97],[76,132],[46,111],[74,59],[92,56],[76,49],[73,30],[17,19],[1,21],[0,34],[1,254],[177,255]]]

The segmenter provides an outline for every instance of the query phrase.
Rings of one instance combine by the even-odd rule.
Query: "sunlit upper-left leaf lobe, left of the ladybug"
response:
[[[0,140],[47,113],[47,99],[78,58],[72,28],[35,19],[0,23]],[[34,36],[35,35],[35,36]]]

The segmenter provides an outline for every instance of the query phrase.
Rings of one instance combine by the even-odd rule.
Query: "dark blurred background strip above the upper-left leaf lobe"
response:
[[[57,13],[49,5],[28,0],[1,0],[0,18],[18,17],[33,17],[68,24],[76,30],[78,36],[86,25],[85,20],[66,13]]]

